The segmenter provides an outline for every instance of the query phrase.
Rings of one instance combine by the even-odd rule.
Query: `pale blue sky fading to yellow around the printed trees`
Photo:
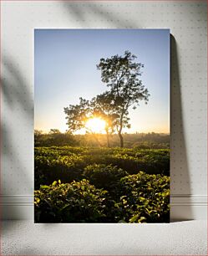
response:
[[[125,50],[144,64],[140,79],[150,98],[129,109],[124,131],[170,133],[169,29],[35,29],[34,128],[66,131],[63,108],[107,90],[96,64]]]

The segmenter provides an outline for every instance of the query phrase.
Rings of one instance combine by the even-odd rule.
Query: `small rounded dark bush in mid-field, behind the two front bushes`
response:
[[[94,164],[84,168],[84,177],[95,187],[106,190],[112,190],[117,186],[120,178],[127,175],[128,172],[111,165]]]

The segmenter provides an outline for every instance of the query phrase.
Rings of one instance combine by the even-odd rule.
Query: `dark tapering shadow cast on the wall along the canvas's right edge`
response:
[[[190,195],[190,173],[185,144],[178,52],[173,35],[170,35],[170,134],[170,194],[176,199]],[[184,212],[180,212],[180,205],[170,204],[170,219],[175,221],[193,219],[191,205],[185,207],[188,217],[181,218]],[[176,218],[175,212],[177,212]]]

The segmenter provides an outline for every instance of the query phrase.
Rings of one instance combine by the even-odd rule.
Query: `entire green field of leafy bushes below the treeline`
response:
[[[36,223],[169,222],[170,150],[34,149]]]

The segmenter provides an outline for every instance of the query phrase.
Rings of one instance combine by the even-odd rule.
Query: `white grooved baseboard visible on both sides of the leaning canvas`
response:
[[[33,196],[8,195],[1,197],[2,219],[33,219]],[[207,219],[206,195],[171,195],[170,219],[181,221]]]

